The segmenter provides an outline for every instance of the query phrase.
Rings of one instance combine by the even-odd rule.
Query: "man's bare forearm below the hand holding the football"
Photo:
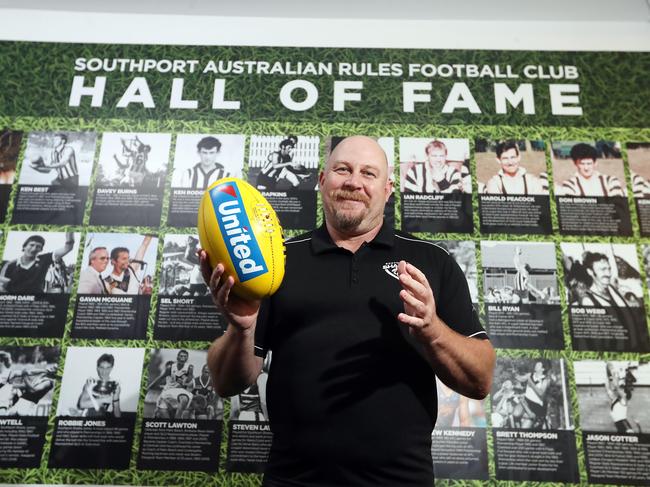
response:
[[[208,351],[208,366],[220,397],[240,393],[257,379],[262,359],[255,356],[255,327],[229,326]]]

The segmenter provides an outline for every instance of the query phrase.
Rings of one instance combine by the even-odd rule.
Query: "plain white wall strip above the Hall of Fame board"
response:
[[[16,9],[8,7],[47,3],[0,0],[0,39],[125,44],[650,51],[647,10],[643,14],[647,4],[645,0],[640,1],[641,4],[639,0],[605,2],[615,4],[617,8],[612,10],[610,7],[596,15],[593,12],[597,12],[598,4],[603,2],[592,0],[591,3],[595,2],[596,6],[592,5],[593,10],[589,9],[589,14],[580,16],[580,10],[560,8],[563,3],[567,4],[566,0],[553,0],[544,3],[546,7],[543,11],[553,15],[543,16],[542,11],[534,10],[526,15],[526,12],[516,15],[519,11],[507,8],[499,11],[499,4],[509,6],[512,3],[501,0],[489,2],[492,9],[481,9],[481,15],[472,15],[472,11],[467,13],[468,19],[479,17],[488,20],[461,20],[462,13],[451,15],[451,11],[447,12],[446,19],[436,20],[435,12],[429,10],[423,11],[422,18],[426,20],[404,18],[406,15],[396,15],[394,20],[388,20],[383,18],[389,13],[387,10],[381,10],[381,15],[375,17],[382,18],[375,19],[359,18],[362,12],[358,11],[352,12],[357,18],[340,18],[345,13],[342,9],[334,9],[338,18],[300,18],[302,12],[298,8],[277,10],[278,13],[294,14],[292,18],[225,17],[206,14],[71,12],[43,10],[38,5],[30,9]],[[75,3],[79,2],[63,2],[63,6],[70,8],[70,4]],[[137,1],[131,3],[138,5]],[[221,2],[214,2],[218,3]],[[406,0],[404,5],[408,7],[409,3],[413,1]],[[585,2],[581,3],[584,5]],[[92,2],[80,5],[80,8],[86,8],[86,5],[92,6]],[[126,9],[126,5],[122,2],[117,7]],[[169,11],[170,5],[163,2],[157,11]],[[182,3],[176,5],[183,6]],[[394,2],[393,9],[400,8],[400,5],[402,2]],[[201,9],[186,12],[196,11],[201,12]],[[259,11],[268,13],[268,8]],[[487,12],[492,14],[488,15]],[[616,12],[618,15],[614,15]],[[316,13],[323,14],[321,10]],[[309,11],[305,12],[305,16],[308,14]],[[417,10],[410,11],[408,17],[418,17]],[[553,19],[529,20],[540,17]],[[510,20],[499,20],[501,18]]]

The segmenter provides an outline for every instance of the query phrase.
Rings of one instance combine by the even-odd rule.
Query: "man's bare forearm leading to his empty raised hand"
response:
[[[443,326],[440,336],[425,346],[435,374],[464,396],[483,399],[492,387],[496,360],[490,341],[466,337]]]

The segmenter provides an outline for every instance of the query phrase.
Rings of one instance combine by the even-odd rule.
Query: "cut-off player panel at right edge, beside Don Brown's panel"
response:
[[[650,235],[650,142],[628,142],[627,160],[641,235]]]

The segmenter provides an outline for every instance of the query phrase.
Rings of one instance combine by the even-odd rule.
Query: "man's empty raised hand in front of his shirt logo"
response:
[[[409,332],[424,343],[435,341],[444,324],[436,314],[436,300],[426,276],[420,269],[400,261],[397,274],[402,290],[399,297],[404,303],[404,312],[397,319],[409,327]]]

